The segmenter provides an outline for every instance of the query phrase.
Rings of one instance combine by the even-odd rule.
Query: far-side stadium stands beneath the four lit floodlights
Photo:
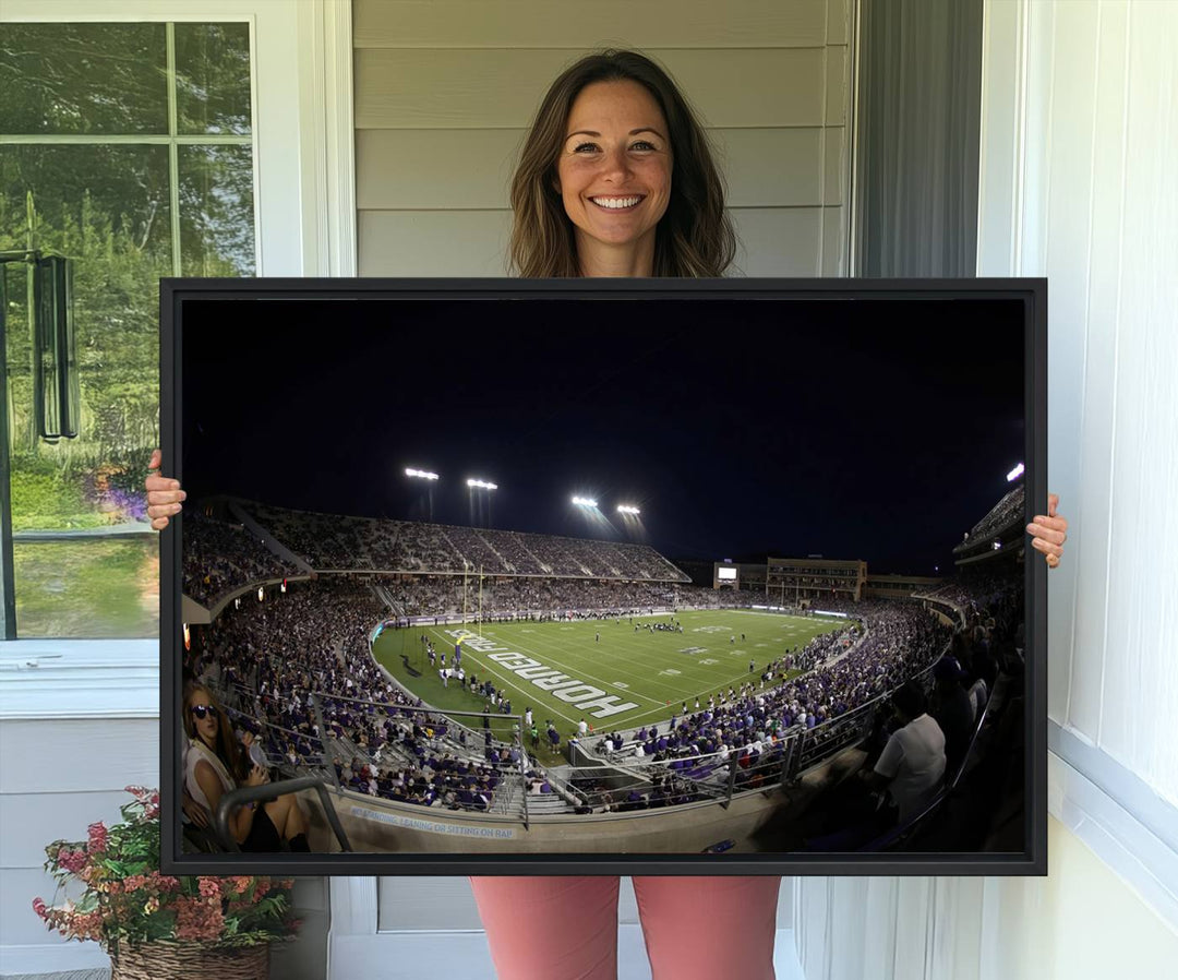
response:
[[[403,616],[472,613],[479,607],[484,617],[524,610],[549,616],[557,610],[722,609],[757,598],[691,586],[674,565],[644,545],[330,517],[259,505],[243,509],[311,567],[416,573],[388,580],[393,609]],[[184,592],[198,603],[212,604],[258,580],[299,571],[241,525],[194,511],[185,515]]]

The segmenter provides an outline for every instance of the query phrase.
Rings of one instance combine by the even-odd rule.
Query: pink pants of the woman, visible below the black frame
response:
[[[616,877],[472,877],[499,980],[615,980]],[[635,877],[654,980],[773,980],[781,879]]]

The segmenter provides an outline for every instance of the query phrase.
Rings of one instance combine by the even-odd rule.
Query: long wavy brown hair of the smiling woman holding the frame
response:
[[[655,232],[654,275],[723,275],[736,252],[736,236],[708,138],[667,72],[636,51],[585,55],[544,96],[511,180],[512,270],[528,278],[581,275],[573,223],[556,190],[556,162],[573,103],[596,81],[638,83],[654,97],[670,130],[670,200]]]

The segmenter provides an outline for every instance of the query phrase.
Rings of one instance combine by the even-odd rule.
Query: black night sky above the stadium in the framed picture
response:
[[[441,524],[933,574],[1024,459],[1008,300],[236,298],[184,324],[190,501],[428,520],[417,467]]]

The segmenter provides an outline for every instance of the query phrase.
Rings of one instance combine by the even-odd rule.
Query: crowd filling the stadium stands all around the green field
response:
[[[522,754],[522,743],[495,743],[489,730],[481,737],[442,715],[410,710],[422,708],[422,702],[391,683],[369,651],[370,631],[388,621],[390,601],[391,612],[402,617],[470,613],[482,601],[484,619],[512,619],[715,609],[748,605],[757,598],[646,577],[613,581],[560,577],[584,575],[590,570],[587,560],[609,574],[634,574],[634,564],[621,567],[634,558],[642,559],[647,573],[659,571],[660,565],[663,573],[673,567],[649,548],[644,551],[657,561],[643,555],[642,548],[596,541],[262,507],[253,507],[252,515],[292,551],[320,566],[348,559],[344,564],[360,571],[365,558],[375,567],[390,555],[409,555],[434,565],[462,563],[469,570],[475,560],[485,567],[495,557],[502,568],[530,561],[532,567],[550,570],[549,575],[501,573],[494,578],[322,575],[316,581],[292,583],[286,593],[272,591],[264,601],[252,593],[239,597],[207,627],[199,673],[224,692],[243,726],[260,735],[272,761],[319,767],[357,791],[426,807],[490,810],[501,802],[505,807],[510,795],[503,796],[503,781],[508,771],[519,772],[521,759],[525,791],[545,795],[552,787],[544,771]],[[217,583],[220,594],[234,577],[249,584],[260,574],[289,571],[238,526],[198,518],[186,524],[186,532],[192,534],[186,539],[186,571],[190,555],[192,564],[216,571],[216,578],[209,574],[209,584]],[[1018,616],[1019,596],[1012,577],[994,574],[962,577],[938,590],[938,598],[962,611],[979,644],[994,629],[995,616],[1001,626],[1010,627],[1011,618]],[[947,627],[916,601],[825,605],[843,609],[860,625],[823,633],[770,663],[760,673],[759,685],[748,682],[740,690],[730,688],[707,704],[684,703],[669,725],[610,732],[608,741],[596,738],[597,751],[633,758],[646,782],[617,798],[607,792],[581,803],[617,810],[702,798],[707,785],[714,788],[734,770],[739,788],[754,784],[754,778],[759,784],[767,767],[780,767],[790,735],[807,732],[812,751],[821,751],[827,743],[834,746],[840,738],[838,719],[925,671],[948,640]],[[806,673],[783,680],[790,670]],[[311,691],[335,695],[322,698],[323,731],[313,716]],[[550,729],[549,735],[554,732]],[[567,798],[571,808],[588,809]]]

